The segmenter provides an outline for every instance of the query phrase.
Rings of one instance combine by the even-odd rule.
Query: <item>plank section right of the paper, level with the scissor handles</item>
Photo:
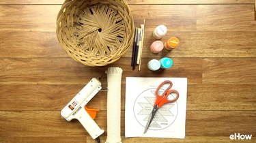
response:
[[[256,110],[253,84],[188,85],[187,110]]]

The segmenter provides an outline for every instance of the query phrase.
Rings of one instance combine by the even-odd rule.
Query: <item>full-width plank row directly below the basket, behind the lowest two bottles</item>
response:
[[[143,59],[143,63],[149,60]],[[120,59],[109,66],[121,63],[130,65],[130,59]],[[85,67],[72,59],[2,59],[0,67],[3,72],[0,83],[83,84],[88,76],[98,77],[109,66]],[[124,77],[187,77],[190,84],[198,84],[201,81],[206,84],[255,84],[256,78],[255,59],[173,59],[171,69],[159,72],[150,72],[146,64],[142,66],[143,73],[132,71],[130,66],[123,68]]]

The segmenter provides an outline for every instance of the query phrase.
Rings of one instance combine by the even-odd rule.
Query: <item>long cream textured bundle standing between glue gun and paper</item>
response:
[[[107,137],[105,143],[121,142],[121,80],[123,70],[109,67],[107,76]]]

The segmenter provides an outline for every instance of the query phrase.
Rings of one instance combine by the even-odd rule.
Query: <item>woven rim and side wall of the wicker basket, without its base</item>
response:
[[[110,63],[117,61],[132,46],[132,41],[133,41],[133,37],[134,37],[134,19],[133,19],[132,13],[130,11],[130,7],[128,6],[128,3],[125,0],[118,0],[118,2],[116,0],[109,0],[109,1],[114,1],[115,3],[122,3],[123,5],[125,5],[124,7],[121,7],[121,9],[124,9],[123,10],[124,12],[126,10],[126,13],[129,16],[128,20],[130,20],[130,21],[126,22],[127,25],[125,27],[125,33],[128,34],[128,37],[126,37],[126,41],[122,40],[122,43],[120,43],[119,47],[117,47],[117,50],[115,50],[114,52],[111,52],[109,54],[104,54],[104,55],[94,55],[94,54],[90,54],[89,52],[83,52],[83,55],[81,55],[81,51],[75,50],[75,48],[72,48],[72,47],[70,48],[70,46],[66,42],[64,42],[64,40],[62,38],[62,34],[61,34],[61,33],[63,33],[63,29],[61,29],[61,27],[63,26],[63,23],[62,23],[63,19],[65,19],[66,18],[65,16],[67,16],[66,11],[68,11],[67,10],[68,8],[71,8],[71,10],[73,10],[73,11],[78,11],[79,9],[75,10],[75,8],[78,8],[75,6],[75,3],[77,2],[77,0],[66,0],[63,2],[63,5],[61,6],[61,9],[59,10],[59,13],[57,15],[57,21],[56,21],[57,39],[59,41],[59,44],[61,45],[61,48],[63,48],[63,50],[65,50],[68,53],[68,55],[70,57],[72,57],[72,59],[74,59],[75,61],[78,61],[80,63],[83,63],[84,65],[89,65],[89,66],[108,65]],[[85,2],[85,0],[79,1],[78,5],[82,5],[83,2]],[[93,2],[106,3],[107,1],[94,0]],[[74,7],[71,7],[72,5]],[[122,12],[122,10],[120,10],[120,7],[118,7],[118,8],[119,8],[117,10],[118,13]],[[74,19],[72,19],[71,25],[72,25],[72,27],[74,27]]]

